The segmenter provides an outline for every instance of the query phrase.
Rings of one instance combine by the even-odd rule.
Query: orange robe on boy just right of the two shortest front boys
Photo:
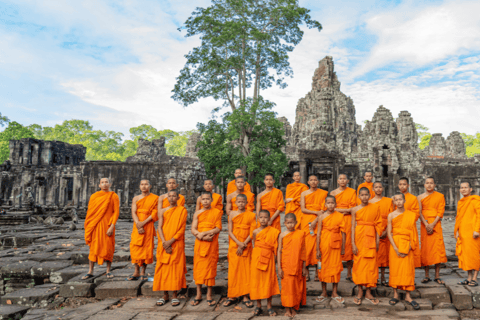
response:
[[[339,283],[342,263],[342,232],[345,233],[343,214],[335,211],[322,220],[320,236],[320,252],[322,253],[322,269],[318,273],[320,281]],[[351,233],[351,230],[350,230]]]

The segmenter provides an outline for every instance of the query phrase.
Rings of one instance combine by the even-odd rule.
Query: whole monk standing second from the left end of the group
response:
[[[146,281],[145,269],[153,263],[155,247],[155,221],[158,220],[158,196],[150,193],[150,181],[140,181],[141,195],[132,200],[133,230],[130,241],[130,257],[135,265],[133,275],[127,281]]]

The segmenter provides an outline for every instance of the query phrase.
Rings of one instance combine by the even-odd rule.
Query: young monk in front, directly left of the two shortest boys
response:
[[[247,196],[237,195],[237,211],[228,216],[228,299],[224,307],[231,306],[239,299],[247,308],[253,307],[248,298],[250,293],[250,270],[252,261],[252,238],[250,234],[256,229],[256,215],[246,211]]]

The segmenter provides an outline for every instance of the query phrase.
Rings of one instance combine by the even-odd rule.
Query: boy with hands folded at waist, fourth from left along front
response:
[[[222,230],[222,211],[212,208],[212,193],[202,191],[202,206],[193,215],[192,234],[195,236],[193,252],[193,280],[197,285],[197,296],[192,306],[202,301],[202,285],[207,286],[207,303],[209,306],[217,302],[213,300],[213,286],[217,275],[218,234]]]

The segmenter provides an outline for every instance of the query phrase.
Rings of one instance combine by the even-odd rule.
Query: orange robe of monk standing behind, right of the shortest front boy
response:
[[[305,208],[313,211],[325,210],[325,198],[328,192],[322,189],[317,189],[315,192],[305,196]],[[300,230],[305,232],[305,250],[307,255],[306,264],[311,266],[317,264],[317,228],[314,229],[314,234],[310,234],[309,223],[317,219],[316,214],[307,214],[302,212],[302,221],[300,222]]]

